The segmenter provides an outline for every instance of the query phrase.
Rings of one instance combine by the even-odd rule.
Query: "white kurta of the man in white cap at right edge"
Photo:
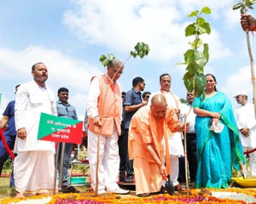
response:
[[[254,115],[254,104],[245,104],[235,110],[236,122],[239,130],[244,127],[249,128],[249,136],[244,136],[241,132],[242,146],[256,148],[256,119]]]

